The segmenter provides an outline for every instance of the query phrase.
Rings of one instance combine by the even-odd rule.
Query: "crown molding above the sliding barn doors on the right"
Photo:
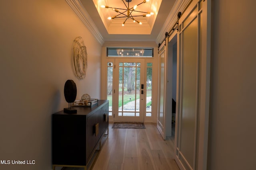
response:
[[[160,43],[163,41],[163,39],[165,38],[165,33],[169,32],[172,29],[172,27],[176,25],[178,12],[183,13],[191,1],[192,0],[176,0],[170,14],[168,15],[164,22],[164,25],[160,33],[158,34],[158,37],[156,38],[156,43]]]

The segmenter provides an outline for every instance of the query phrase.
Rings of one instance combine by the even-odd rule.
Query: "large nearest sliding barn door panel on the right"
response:
[[[193,0],[178,26],[175,137],[180,169],[206,169],[209,114],[210,1]],[[177,114],[178,113],[178,114]]]

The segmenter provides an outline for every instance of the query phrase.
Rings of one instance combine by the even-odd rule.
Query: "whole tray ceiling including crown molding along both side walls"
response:
[[[171,18],[176,18],[177,9],[182,5],[181,2],[183,2],[183,0],[150,0],[150,2],[141,4],[138,7],[152,8],[155,5],[157,10],[153,10],[156,11],[154,16],[146,18],[147,20],[144,19],[145,17],[142,18],[144,20],[142,20],[142,25],[130,21],[131,23],[126,22],[125,26],[122,27],[124,20],[121,19],[122,21],[118,23],[116,19],[112,21],[107,19],[111,16],[107,10],[111,10],[111,8],[100,7],[101,5],[108,5],[117,8],[118,4],[120,4],[120,6],[122,5],[121,8],[125,8],[122,0],[66,1],[101,43],[106,41],[162,41],[162,36],[166,32],[165,29],[171,27],[170,24],[173,25],[173,22],[176,22],[172,21]],[[134,6],[134,4],[141,3],[142,1],[132,0],[130,6]]]

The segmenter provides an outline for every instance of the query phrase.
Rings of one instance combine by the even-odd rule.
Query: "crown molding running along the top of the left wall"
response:
[[[84,23],[84,25],[89,29],[89,31],[94,35],[97,41],[102,45],[104,43],[104,39],[92,21],[92,18],[89,16],[88,12],[84,9],[84,6],[80,2],[80,0],[66,0],[68,5],[72,8],[72,10],[76,13],[78,18]]]

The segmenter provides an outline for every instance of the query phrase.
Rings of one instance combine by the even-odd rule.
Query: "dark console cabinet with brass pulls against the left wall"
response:
[[[77,113],[52,114],[52,169],[56,166],[82,167],[91,164],[108,135],[108,100],[93,107],[73,107]]]

